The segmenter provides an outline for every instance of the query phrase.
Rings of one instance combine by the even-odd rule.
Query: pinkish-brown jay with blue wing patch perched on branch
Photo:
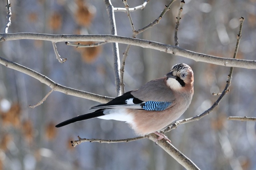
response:
[[[194,94],[194,73],[181,63],[172,66],[164,77],[151,80],[137,90],[124,93],[108,103],[90,109],[94,112],[80,115],[56,125],[57,128],[91,118],[125,121],[136,135],[158,135],[157,141],[166,139],[158,131],[178,119],[188,108]]]

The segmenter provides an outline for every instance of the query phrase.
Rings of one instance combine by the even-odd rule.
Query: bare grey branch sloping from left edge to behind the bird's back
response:
[[[25,73],[25,74],[39,80],[41,83],[44,83],[47,86],[51,87],[53,89],[53,91],[59,91],[59,92],[65,93],[66,95],[81,97],[84,99],[89,99],[89,100],[97,101],[100,103],[107,103],[107,102],[113,100],[113,98],[110,98],[110,97],[100,96],[100,95],[96,95],[93,93],[89,93],[89,92],[85,92],[85,91],[81,91],[81,90],[76,90],[76,89],[73,89],[70,87],[62,86],[58,83],[55,83],[51,79],[47,78],[43,74],[40,74],[34,70],[31,70],[31,69],[24,67],[22,65],[19,65],[17,63],[8,61],[2,57],[0,57],[0,64],[6,66],[8,68],[17,70],[19,72]]]

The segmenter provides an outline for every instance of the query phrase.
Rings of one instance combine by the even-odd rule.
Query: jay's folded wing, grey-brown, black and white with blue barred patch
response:
[[[163,111],[169,108],[174,100],[171,89],[165,85],[165,78],[146,83],[138,90],[126,92],[106,104],[100,104],[91,109],[131,108],[148,111]]]

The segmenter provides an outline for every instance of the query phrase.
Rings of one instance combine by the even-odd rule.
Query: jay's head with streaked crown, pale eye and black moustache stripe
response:
[[[184,63],[172,66],[167,77],[167,85],[173,90],[189,90],[193,89],[194,75],[192,69]]]

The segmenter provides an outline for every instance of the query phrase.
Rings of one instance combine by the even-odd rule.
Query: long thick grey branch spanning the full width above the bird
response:
[[[157,43],[154,41],[148,41],[137,38],[128,38],[115,35],[53,35],[53,34],[39,34],[39,33],[13,33],[13,34],[0,34],[1,41],[20,40],[20,39],[33,39],[33,40],[44,40],[65,42],[65,41],[106,41],[107,43],[122,43],[130,44],[132,46],[138,46],[143,48],[150,48],[169,54],[183,56],[190,58],[197,62],[210,63],[226,67],[240,67],[247,69],[256,69],[256,60],[242,60],[225,57],[217,57],[213,55],[207,55],[197,53],[189,50],[182,49],[177,46],[171,46],[167,44]],[[171,56],[170,56],[171,57]]]

